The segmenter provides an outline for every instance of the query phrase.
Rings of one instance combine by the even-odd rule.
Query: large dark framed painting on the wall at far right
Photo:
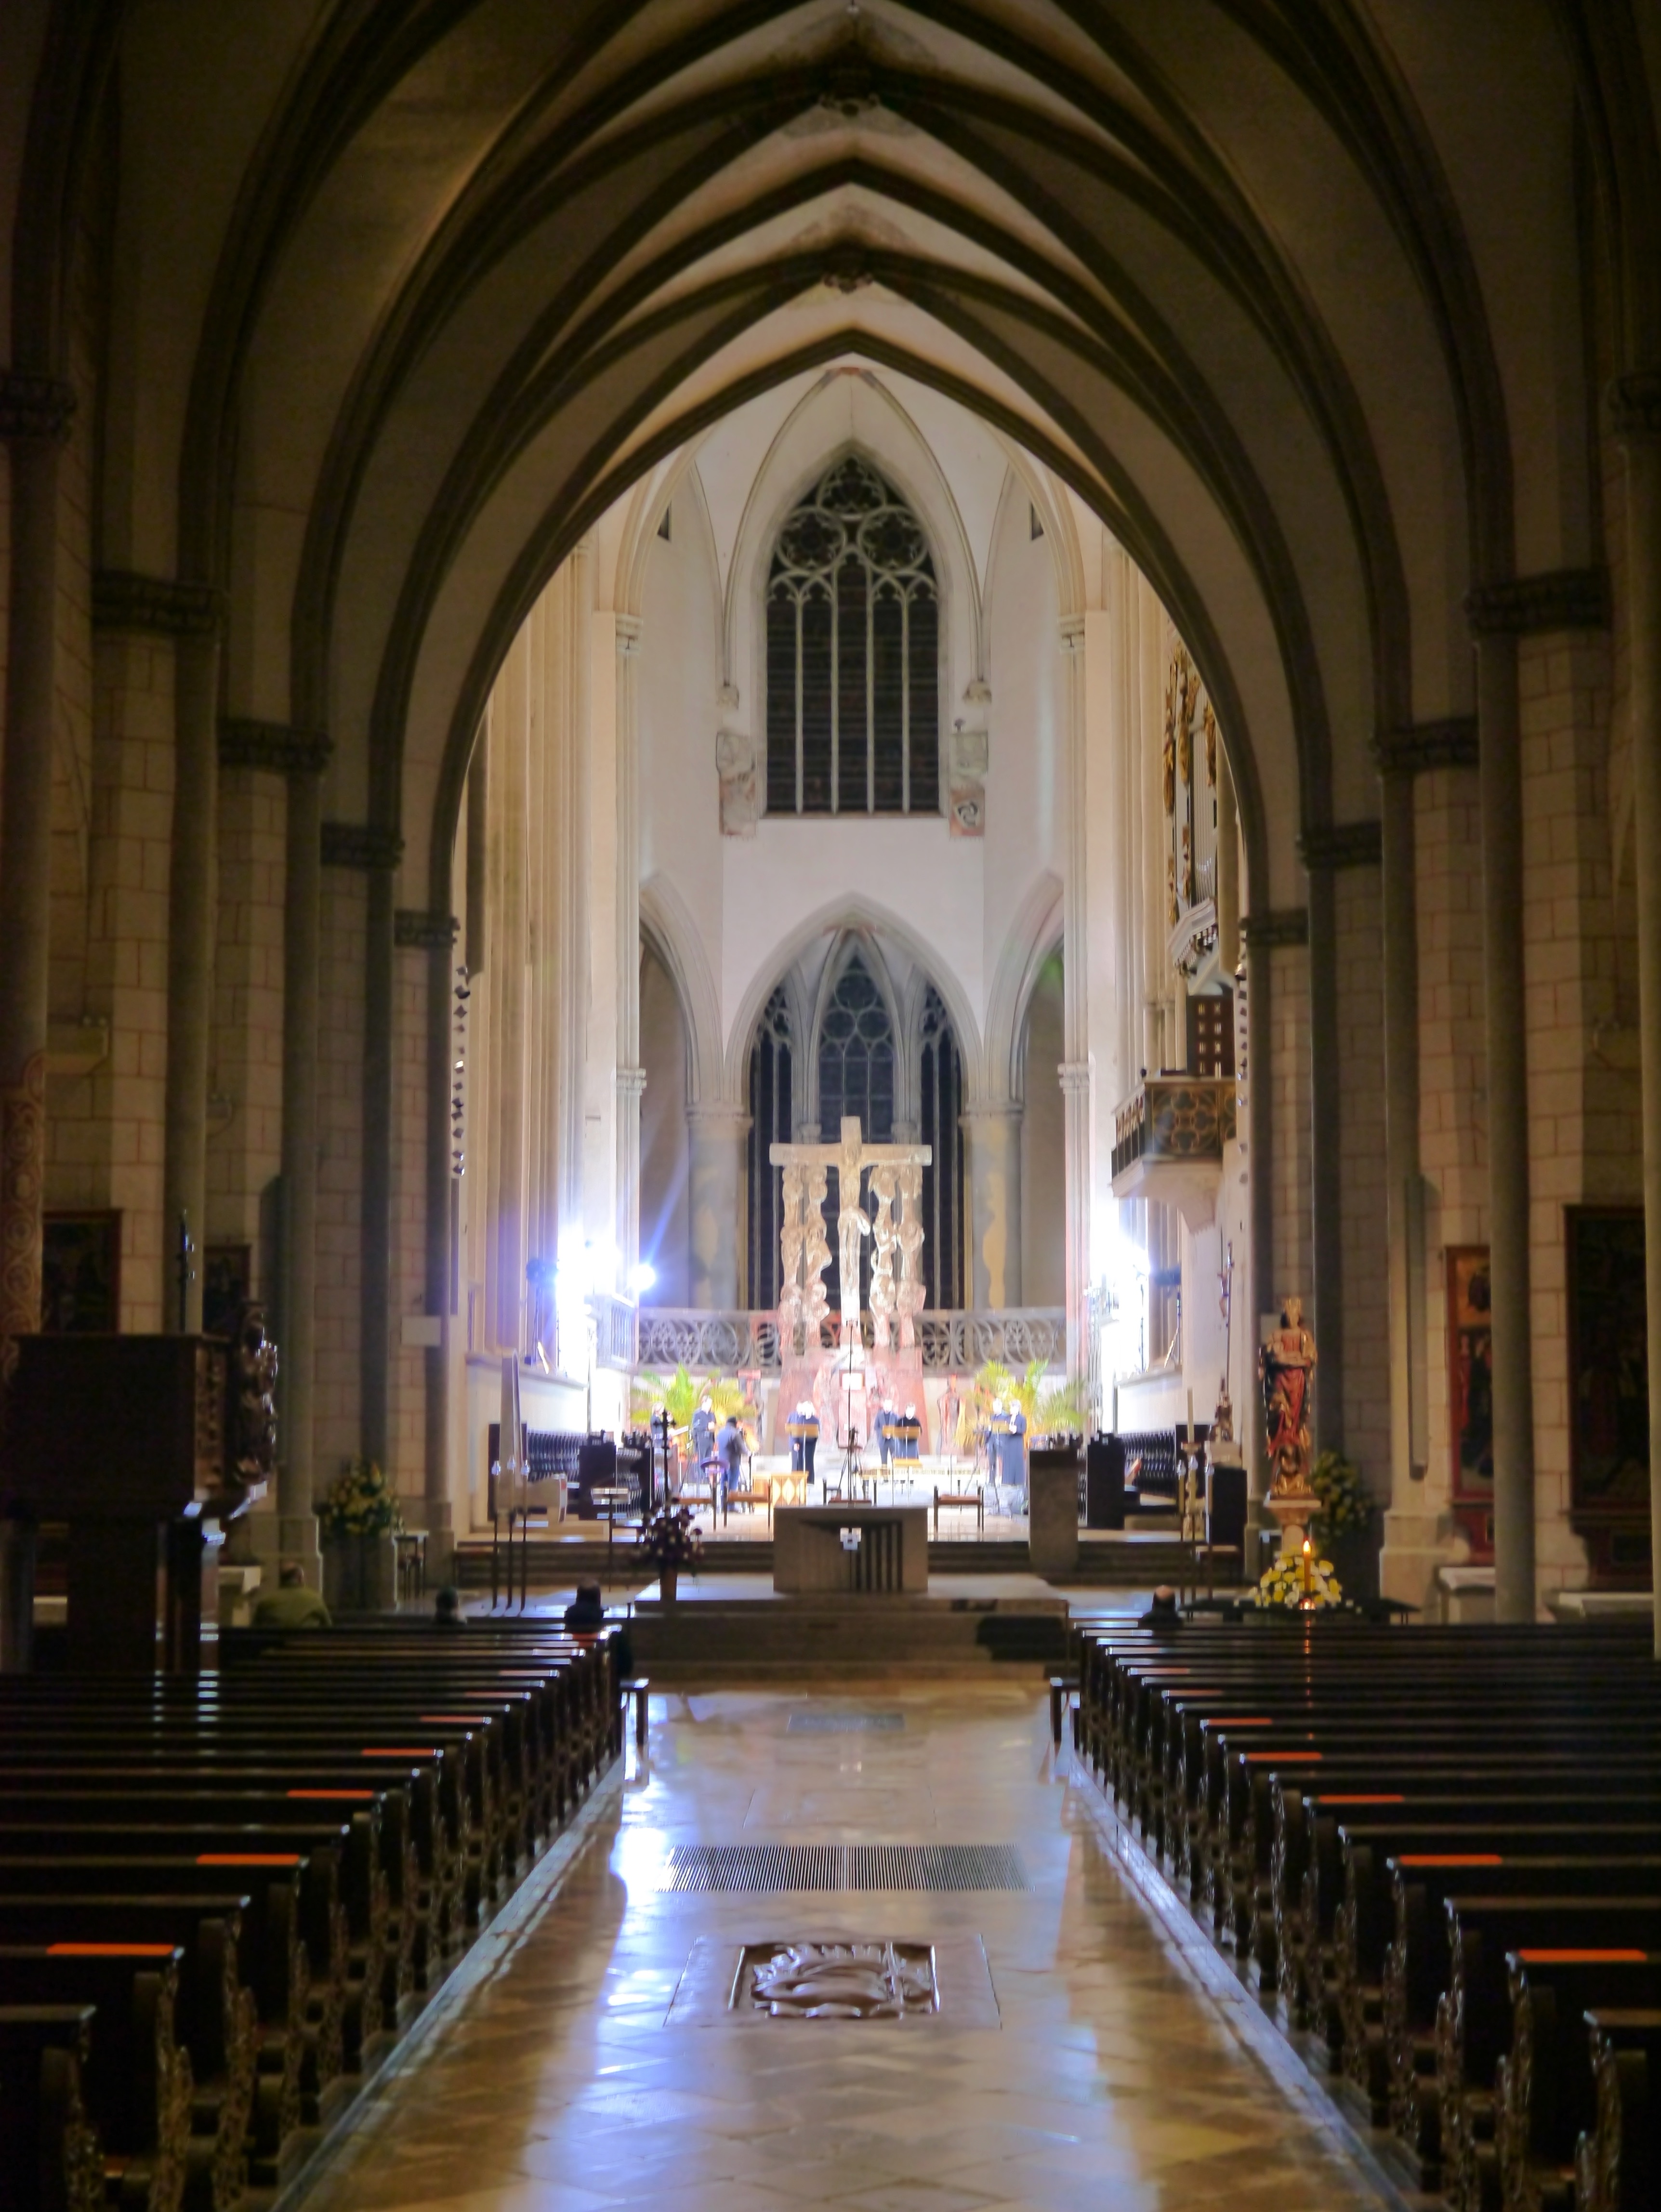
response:
[[[1650,1573],[1643,1208],[1566,1208],[1568,1511],[1597,1582]]]

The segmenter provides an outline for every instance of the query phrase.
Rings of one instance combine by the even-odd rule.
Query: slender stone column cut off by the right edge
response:
[[[1643,1287],[1650,1429],[1661,1407],[1661,369],[1612,392],[1626,449],[1632,805],[1639,905],[1639,1071],[1643,1077]],[[1650,1579],[1661,1657],[1661,1451],[1650,1451]]]

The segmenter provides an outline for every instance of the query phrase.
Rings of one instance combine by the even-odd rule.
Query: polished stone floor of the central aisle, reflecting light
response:
[[[666,1893],[686,1843],[1017,1843],[1031,1887]],[[533,1878],[484,1933],[305,2212],[1389,2203],[1121,1849],[1097,1792],[1053,1761],[1037,1683],[652,1699],[646,1767],[630,1747],[564,1880],[549,1896]],[[1000,2024],[953,2017],[949,1989],[938,2017],[894,2022],[686,2002],[694,1949],[708,1982],[741,1944],[834,1936],[942,1960],[978,1938]]]

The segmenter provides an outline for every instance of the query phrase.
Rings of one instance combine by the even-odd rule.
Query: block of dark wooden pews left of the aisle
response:
[[[619,1752],[615,1639],[540,1621],[0,1677],[0,2208],[283,2188]]]

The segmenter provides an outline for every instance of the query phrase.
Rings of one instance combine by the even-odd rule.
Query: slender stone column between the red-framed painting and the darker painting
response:
[[[1466,602],[1477,648],[1482,987],[1488,1013],[1488,1261],[1493,1283],[1495,1619],[1535,1617],[1535,1387],[1528,1314],[1528,1026],[1522,956],[1517,593]]]

